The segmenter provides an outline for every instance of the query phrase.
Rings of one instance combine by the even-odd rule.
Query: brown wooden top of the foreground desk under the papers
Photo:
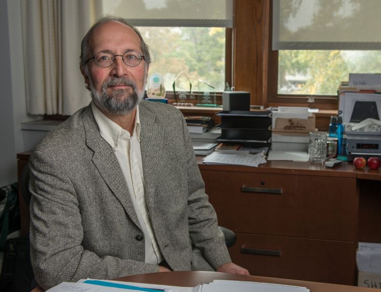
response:
[[[290,279],[267,278],[259,276],[233,275],[217,272],[163,272],[123,277],[116,280],[136,283],[151,283],[172,286],[194,287],[201,283],[209,283],[213,280],[237,280],[250,282],[265,282],[285,285],[307,287],[311,292],[370,292],[379,291],[356,286],[298,281]]]

